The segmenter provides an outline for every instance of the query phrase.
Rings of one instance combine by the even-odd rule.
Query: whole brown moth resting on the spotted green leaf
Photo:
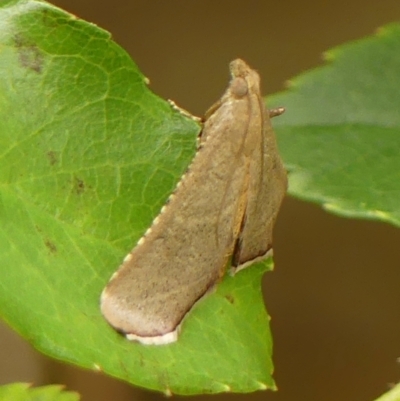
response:
[[[107,321],[144,344],[177,340],[193,305],[222,278],[266,258],[287,178],[260,78],[244,61],[206,113],[198,151],[152,226],[101,296]]]

